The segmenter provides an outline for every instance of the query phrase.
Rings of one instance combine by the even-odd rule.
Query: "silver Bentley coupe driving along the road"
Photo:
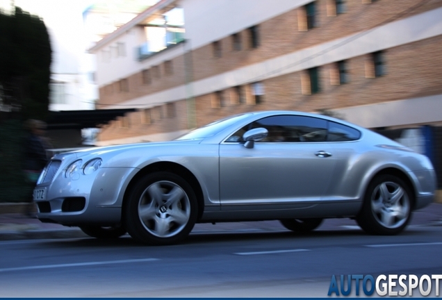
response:
[[[38,219],[95,238],[177,243],[195,223],[325,218],[394,235],[434,199],[426,156],[366,128],[293,111],[234,115],[170,142],[57,154],[34,190]]]

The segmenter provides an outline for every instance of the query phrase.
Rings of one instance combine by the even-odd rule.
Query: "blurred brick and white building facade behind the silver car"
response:
[[[177,9],[184,24],[167,18]],[[438,0],[161,0],[90,49],[97,108],[137,109],[97,144],[170,140],[252,110],[439,126],[440,49]]]

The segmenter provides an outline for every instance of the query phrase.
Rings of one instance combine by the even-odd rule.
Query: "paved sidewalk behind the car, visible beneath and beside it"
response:
[[[87,238],[80,228],[59,224],[42,223],[39,219],[28,218],[18,213],[20,208],[2,208],[0,205],[0,241],[54,238]],[[426,208],[417,210],[409,226],[442,226],[442,203],[432,203]],[[318,228],[345,229],[357,226],[352,219],[326,219]],[[196,224],[193,233],[231,232],[231,231],[284,231],[277,221],[265,222],[231,222],[218,224]]]

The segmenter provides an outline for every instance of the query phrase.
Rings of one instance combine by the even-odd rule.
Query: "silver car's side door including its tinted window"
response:
[[[335,160],[327,146],[327,121],[315,117],[266,117],[245,128],[268,129],[252,149],[243,141],[220,144],[222,210],[284,209],[319,201],[327,190]]]

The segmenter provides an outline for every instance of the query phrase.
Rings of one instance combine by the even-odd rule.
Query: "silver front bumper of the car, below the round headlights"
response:
[[[124,191],[135,168],[101,168],[89,175],[66,178],[63,170],[50,183],[37,185],[44,199],[35,199],[37,217],[42,222],[67,226],[121,222]]]

